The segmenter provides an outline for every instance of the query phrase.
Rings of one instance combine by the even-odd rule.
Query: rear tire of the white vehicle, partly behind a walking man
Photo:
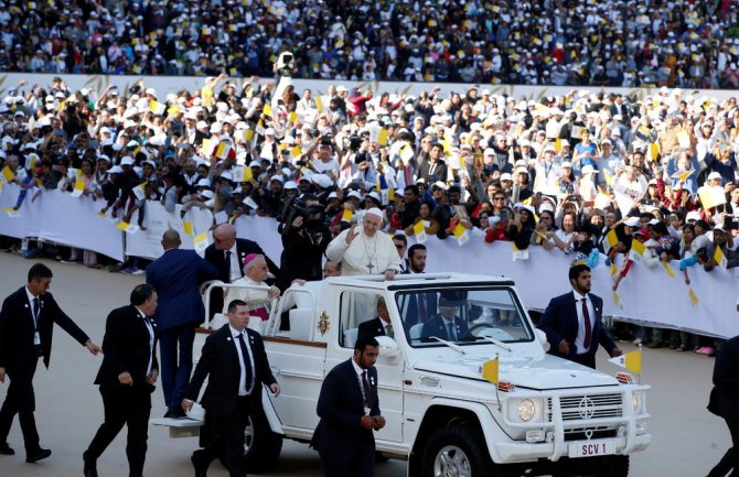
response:
[[[255,474],[269,470],[282,451],[282,436],[272,432],[261,409],[249,413],[244,437],[246,470]]]

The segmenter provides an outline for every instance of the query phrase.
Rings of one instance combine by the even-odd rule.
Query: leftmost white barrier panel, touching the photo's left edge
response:
[[[124,259],[124,236],[116,224],[97,213],[105,206],[103,200],[88,197],[72,197],[60,191],[45,191],[34,202],[33,191],[18,210],[18,217],[6,212],[12,208],[21,188],[6,184],[0,192],[0,234],[23,238],[38,237],[81,249],[93,250]]]

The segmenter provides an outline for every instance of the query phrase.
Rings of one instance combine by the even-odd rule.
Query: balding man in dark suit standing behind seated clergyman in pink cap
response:
[[[279,281],[280,268],[272,262],[255,241],[236,238],[236,228],[231,224],[221,224],[213,230],[213,243],[205,249],[205,260],[218,269],[218,280],[232,283],[244,277],[242,264],[246,256],[257,253],[265,256],[269,272]],[[270,282],[271,284],[271,282]],[[223,293],[214,289],[211,293],[208,316],[223,310]]]

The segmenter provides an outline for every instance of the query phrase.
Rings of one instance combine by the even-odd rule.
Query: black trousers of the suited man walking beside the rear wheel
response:
[[[193,453],[196,464],[207,467],[213,460],[221,458],[231,477],[246,476],[244,431],[249,412],[258,411],[257,405],[251,397],[247,395],[238,398],[236,409],[229,415],[215,415],[208,412],[205,419],[211,438],[204,448]]]

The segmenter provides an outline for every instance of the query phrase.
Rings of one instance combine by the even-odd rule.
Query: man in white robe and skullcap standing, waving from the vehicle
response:
[[[400,271],[400,256],[390,236],[379,230],[383,213],[376,207],[368,209],[362,219],[362,229],[356,225],[331,240],[325,251],[332,261],[342,264],[342,275],[385,274],[393,280]]]

